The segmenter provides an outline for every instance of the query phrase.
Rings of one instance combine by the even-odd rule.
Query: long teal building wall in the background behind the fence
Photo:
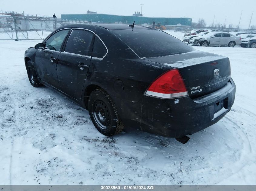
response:
[[[154,21],[161,25],[191,25],[191,18],[163,18],[163,17],[140,17],[140,16],[121,16],[111,14],[62,14],[62,21],[91,21],[92,23],[123,23],[131,24],[149,24]]]

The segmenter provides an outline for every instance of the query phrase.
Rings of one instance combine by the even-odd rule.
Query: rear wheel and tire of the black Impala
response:
[[[91,92],[88,100],[91,121],[103,135],[112,136],[122,132],[124,125],[114,101],[103,89]]]

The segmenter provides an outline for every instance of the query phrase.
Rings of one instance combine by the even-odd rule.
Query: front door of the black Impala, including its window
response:
[[[59,88],[56,61],[69,30],[60,30],[52,34],[44,42],[45,49],[38,49],[35,55],[34,65],[38,77],[55,88]]]

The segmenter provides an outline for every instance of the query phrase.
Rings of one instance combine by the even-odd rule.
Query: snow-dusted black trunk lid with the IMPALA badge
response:
[[[191,98],[214,92],[230,79],[229,59],[212,53],[192,51],[143,59],[177,68]]]

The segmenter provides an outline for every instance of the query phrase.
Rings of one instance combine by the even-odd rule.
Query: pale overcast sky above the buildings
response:
[[[90,11],[97,13],[132,15],[141,11],[145,17],[189,17],[192,22],[204,18],[207,24],[239,23],[243,9],[240,28],[248,28],[251,14],[254,11],[251,25],[256,25],[256,0],[0,0],[0,11],[14,11],[25,14],[51,15],[81,14]]]

